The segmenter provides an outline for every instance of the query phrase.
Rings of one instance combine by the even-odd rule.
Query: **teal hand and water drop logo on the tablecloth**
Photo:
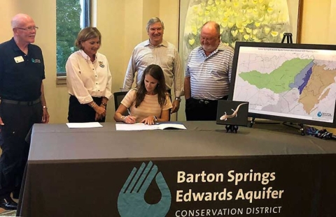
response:
[[[118,211],[121,217],[165,217],[169,211],[172,195],[162,173],[157,174],[158,167],[152,165],[153,163],[149,162],[146,167],[146,164],[142,163],[138,171],[134,167],[125,181],[118,196]],[[154,177],[162,196],[157,204],[148,204],[145,201],[145,193]]]

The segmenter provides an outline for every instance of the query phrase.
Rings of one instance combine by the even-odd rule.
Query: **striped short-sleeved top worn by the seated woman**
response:
[[[132,89],[128,91],[125,98],[121,101],[121,104],[125,107],[130,108],[132,116],[136,117],[136,121],[140,122],[146,117],[155,115],[159,119],[161,118],[161,112],[169,110],[173,107],[170,101],[169,95],[166,96],[166,103],[163,107],[160,107],[158,102],[158,94],[155,95],[145,95],[144,100],[140,103],[138,107],[135,107],[135,98],[137,97],[137,91]]]

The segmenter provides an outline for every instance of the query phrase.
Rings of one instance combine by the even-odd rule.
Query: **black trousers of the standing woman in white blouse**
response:
[[[98,106],[102,103],[102,98],[100,97],[92,97],[92,99]],[[69,123],[94,122],[96,121],[95,118],[96,112],[90,105],[80,104],[76,96],[70,96],[68,112]],[[98,121],[105,122],[105,117]]]

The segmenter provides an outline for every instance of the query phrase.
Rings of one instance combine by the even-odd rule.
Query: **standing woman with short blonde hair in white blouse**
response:
[[[75,41],[78,51],[66,61],[66,85],[70,94],[68,121],[104,122],[111,98],[109,62],[97,52],[102,34],[95,27],[82,29]]]

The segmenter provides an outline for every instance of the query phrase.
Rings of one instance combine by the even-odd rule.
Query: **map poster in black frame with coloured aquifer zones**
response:
[[[248,112],[332,124],[336,51],[239,47],[233,100]]]

